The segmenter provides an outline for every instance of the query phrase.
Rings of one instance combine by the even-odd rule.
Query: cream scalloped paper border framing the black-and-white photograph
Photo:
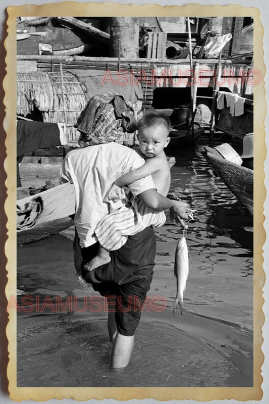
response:
[[[208,401],[212,399],[237,399],[241,401],[260,400],[262,397],[261,366],[264,356],[262,352],[262,325],[264,314],[262,311],[262,287],[265,274],[262,268],[262,246],[265,242],[263,228],[263,204],[265,200],[263,164],[266,157],[264,119],[266,114],[263,62],[263,27],[260,21],[260,12],[255,7],[229,6],[203,6],[189,4],[186,6],[160,6],[156,4],[120,5],[117,3],[76,3],[63,2],[49,3],[42,6],[24,5],[8,7],[8,36],[5,40],[7,74],[4,79],[6,117],[4,129],[6,136],[7,157],[4,162],[7,174],[7,199],[5,213],[7,215],[8,239],[5,244],[7,258],[7,285],[6,297],[16,295],[16,17],[20,16],[244,16],[254,18],[254,68],[261,73],[261,82],[254,86],[254,377],[253,387],[17,387],[17,348],[16,348],[16,311],[10,311],[7,325],[9,363],[7,375],[9,380],[10,397],[15,401],[34,399],[45,401],[51,398],[74,398],[88,400],[91,398],[114,398],[129,400],[132,398],[155,398],[158,400],[196,399]],[[258,139],[257,139],[258,137]],[[4,143],[4,141],[3,141]],[[4,146],[4,144],[3,144]],[[258,158],[257,158],[258,157]]]

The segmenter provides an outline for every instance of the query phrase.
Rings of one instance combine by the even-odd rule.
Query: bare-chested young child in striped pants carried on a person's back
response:
[[[170,141],[170,121],[166,116],[148,114],[138,124],[139,147],[145,164],[118,178],[109,193],[111,199],[117,199],[120,187],[129,185],[141,178],[152,175],[157,191],[166,196],[170,187],[170,167],[164,148]],[[98,254],[85,264],[91,271],[110,262],[110,252],[119,249],[134,235],[149,226],[162,226],[166,217],[163,211],[147,208],[139,197],[131,198],[132,206],[105,216],[97,225],[95,235],[100,243]]]

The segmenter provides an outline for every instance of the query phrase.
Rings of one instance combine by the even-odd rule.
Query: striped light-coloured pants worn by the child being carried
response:
[[[105,249],[117,250],[126,243],[128,236],[149,226],[160,227],[165,224],[164,212],[147,208],[139,198],[132,197],[131,204],[105,216],[95,228],[95,235]]]

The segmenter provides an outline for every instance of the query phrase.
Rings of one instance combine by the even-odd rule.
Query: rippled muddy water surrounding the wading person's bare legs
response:
[[[72,228],[18,246],[18,386],[252,385],[252,218],[212,175],[200,150],[200,145],[184,150],[172,168],[171,192],[197,210],[187,233],[190,272],[183,315],[172,313],[174,254],[182,230],[169,218],[156,229],[148,293],[149,299],[162,296],[164,307],[144,310],[131,363],[121,371],[109,367],[111,342],[103,311],[51,310],[56,296],[62,302],[76,296],[83,307],[85,293],[68,238]],[[29,296],[34,306],[27,312]],[[41,311],[46,296],[50,300]]]

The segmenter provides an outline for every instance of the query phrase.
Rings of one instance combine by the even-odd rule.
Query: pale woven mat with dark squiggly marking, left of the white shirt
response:
[[[17,232],[73,215],[75,208],[76,192],[74,185],[70,183],[19,199],[17,200]]]

